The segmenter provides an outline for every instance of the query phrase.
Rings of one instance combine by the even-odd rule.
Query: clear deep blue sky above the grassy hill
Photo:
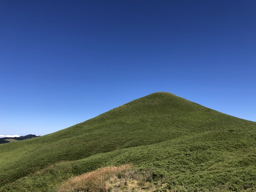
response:
[[[0,134],[157,91],[256,121],[256,1],[0,1]]]

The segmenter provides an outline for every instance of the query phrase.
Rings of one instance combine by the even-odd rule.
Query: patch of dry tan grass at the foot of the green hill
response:
[[[58,192],[151,192],[166,187],[151,181],[150,170],[134,171],[131,165],[109,166],[64,181]]]

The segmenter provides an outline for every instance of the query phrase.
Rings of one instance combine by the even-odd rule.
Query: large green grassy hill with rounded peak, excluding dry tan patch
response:
[[[152,170],[172,191],[256,191],[256,122],[153,93],[70,128],[0,145],[0,191],[55,191],[105,166]]]

